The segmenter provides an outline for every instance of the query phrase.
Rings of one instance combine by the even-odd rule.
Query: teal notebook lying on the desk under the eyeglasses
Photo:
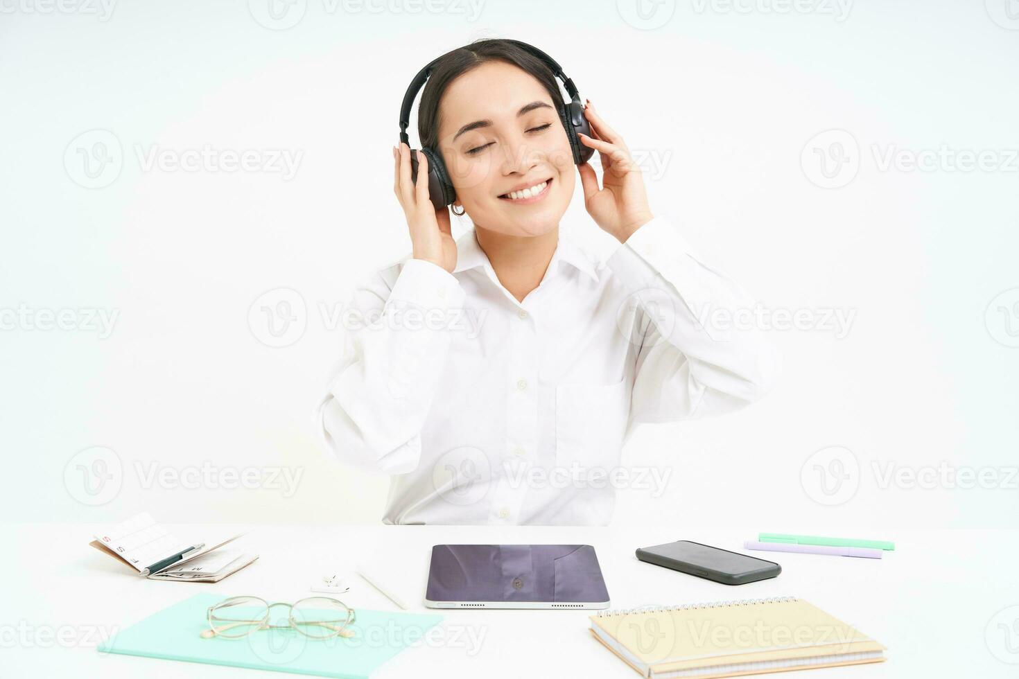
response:
[[[342,679],[367,678],[382,663],[422,639],[440,615],[356,609],[352,638],[310,639],[296,630],[261,630],[239,639],[203,639],[206,610],[226,599],[202,593],[122,629],[101,653]],[[273,621],[275,622],[275,621]]]

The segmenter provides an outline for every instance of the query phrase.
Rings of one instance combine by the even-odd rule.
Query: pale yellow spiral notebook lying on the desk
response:
[[[796,599],[599,611],[591,633],[644,677],[737,677],[880,663],[884,646]]]

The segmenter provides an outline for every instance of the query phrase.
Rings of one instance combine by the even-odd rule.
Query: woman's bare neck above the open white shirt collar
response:
[[[559,227],[538,236],[508,236],[475,226],[478,244],[495,276],[517,301],[523,301],[545,277],[559,240]]]

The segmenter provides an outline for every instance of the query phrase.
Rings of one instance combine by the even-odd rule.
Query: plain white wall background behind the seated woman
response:
[[[410,250],[389,152],[409,80],[506,37],[549,52],[623,133],[656,214],[768,313],[813,319],[768,332],[785,373],[764,400],[637,432],[624,463],[668,483],[622,490],[616,524],[1016,527],[1014,5],[299,0],[276,20],[261,0],[0,0],[4,520],[377,522],[387,479],[330,460],[312,427],[330,314]],[[97,143],[110,162],[86,165]],[[299,162],[147,162],[204,148]],[[890,151],[934,164],[890,168]],[[848,163],[829,181],[822,157]],[[579,189],[562,228],[610,244]],[[261,307],[287,299],[298,325],[269,346]],[[76,329],[46,329],[61,309]]]

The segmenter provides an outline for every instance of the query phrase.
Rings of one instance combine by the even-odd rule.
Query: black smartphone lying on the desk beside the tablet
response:
[[[688,575],[696,575],[722,584],[745,584],[766,580],[782,572],[782,566],[746,554],[681,540],[676,543],[644,547],[637,558]]]

